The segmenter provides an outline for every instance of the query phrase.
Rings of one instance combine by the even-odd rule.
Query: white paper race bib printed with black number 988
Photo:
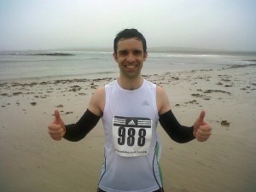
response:
[[[151,138],[151,119],[113,117],[113,146],[116,154],[125,157],[148,155]]]

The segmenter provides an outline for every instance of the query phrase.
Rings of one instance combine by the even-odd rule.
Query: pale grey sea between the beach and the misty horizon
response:
[[[255,65],[256,52],[148,51],[143,75]],[[0,82],[118,77],[113,52],[101,49],[0,51]]]

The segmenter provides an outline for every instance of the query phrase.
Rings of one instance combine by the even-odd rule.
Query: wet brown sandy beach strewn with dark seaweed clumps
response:
[[[201,109],[212,125],[206,143],[173,142],[159,126],[166,192],[256,190],[256,67],[145,76],[163,86],[183,125]],[[113,79],[23,80],[0,83],[0,191],[95,192],[103,162],[102,122],[79,143],[53,141],[55,108],[74,123],[96,87]]]

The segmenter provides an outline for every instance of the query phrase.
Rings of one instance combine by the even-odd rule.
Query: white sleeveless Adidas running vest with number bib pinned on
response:
[[[150,192],[162,187],[156,85],[143,80],[137,90],[117,80],[105,85],[102,116],[104,163],[99,187],[108,192]]]

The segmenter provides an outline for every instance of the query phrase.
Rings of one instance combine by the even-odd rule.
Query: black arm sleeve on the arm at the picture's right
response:
[[[193,135],[193,126],[187,127],[180,125],[172,113],[172,110],[160,114],[159,122],[169,137],[177,143],[187,143],[195,139]]]

